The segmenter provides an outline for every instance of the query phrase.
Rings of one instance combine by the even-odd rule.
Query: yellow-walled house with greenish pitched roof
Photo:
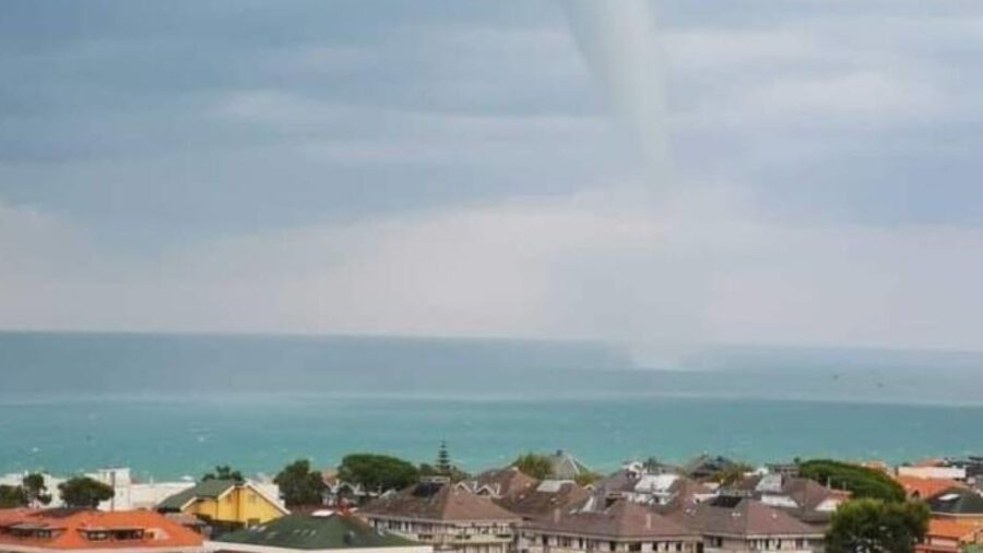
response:
[[[280,503],[248,482],[205,480],[161,502],[161,513],[193,515],[205,522],[252,527],[287,515]]]

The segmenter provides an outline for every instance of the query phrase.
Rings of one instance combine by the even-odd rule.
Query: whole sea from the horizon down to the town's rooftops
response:
[[[582,342],[0,332],[0,473],[272,474],[351,452],[431,461],[441,442],[470,471],[556,449],[601,472],[981,455],[981,361],[730,348],[666,370]]]

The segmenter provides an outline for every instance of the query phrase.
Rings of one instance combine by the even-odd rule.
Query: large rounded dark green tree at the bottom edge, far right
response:
[[[928,530],[923,503],[853,499],[840,505],[826,534],[827,553],[912,553]]]

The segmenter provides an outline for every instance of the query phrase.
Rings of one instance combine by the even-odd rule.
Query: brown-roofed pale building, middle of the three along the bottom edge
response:
[[[696,553],[699,533],[627,499],[607,505],[589,497],[576,508],[554,509],[528,522],[520,553],[659,552]]]

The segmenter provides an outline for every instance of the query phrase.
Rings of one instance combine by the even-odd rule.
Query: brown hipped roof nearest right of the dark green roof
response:
[[[518,521],[519,517],[460,486],[422,482],[383,495],[359,509],[363,515],[419,520]]]

